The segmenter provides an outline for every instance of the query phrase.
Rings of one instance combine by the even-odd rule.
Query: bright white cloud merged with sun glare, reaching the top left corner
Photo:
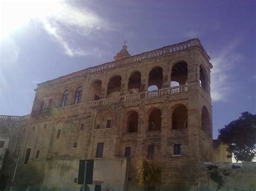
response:
[[[84,39],[105,30],[111,30],[109,23],[87,8],[76,7],[65,1],[4,1],[0,3],[0,40],[31,24],[42,23],[43,29],[69,56],[88,55],[91,51],[79,47],[76,37]],[[85,39],[86,40],[86,39]]]

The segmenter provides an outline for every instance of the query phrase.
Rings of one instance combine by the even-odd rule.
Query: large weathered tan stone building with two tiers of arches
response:
[[[194,186],[200,162],[227,161],[213,147],[212,65],[199,39],[133,56],[124,45],[114,59],[35,89],[19,122],[19,162],[40,168],[44,186],[79,190],[81,159],[94,161],[102,190],[141,190],[142,157],[163,167],[158,189]]]

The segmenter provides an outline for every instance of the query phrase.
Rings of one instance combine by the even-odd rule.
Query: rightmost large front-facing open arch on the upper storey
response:
[[[186,84],[187,82],[187,62],[179,61],[172,66],[171,70],[171,83],[176,81],[179,86]]]

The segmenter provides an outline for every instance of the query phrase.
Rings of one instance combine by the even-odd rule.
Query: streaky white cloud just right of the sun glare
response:
[[[69,56],[89,55],[72,42],[75,36],[89,36],[92,32],[110,29],[106,22],[90,10],[78,9],[64,2],[47,17],[41,18],[43,28],[63,47]]]

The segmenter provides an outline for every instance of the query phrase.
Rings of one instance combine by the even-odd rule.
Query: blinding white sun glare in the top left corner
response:
[[[51,17],[61,9],[60,1],[1,1],[0,39],[20,30],[33,19]]]

